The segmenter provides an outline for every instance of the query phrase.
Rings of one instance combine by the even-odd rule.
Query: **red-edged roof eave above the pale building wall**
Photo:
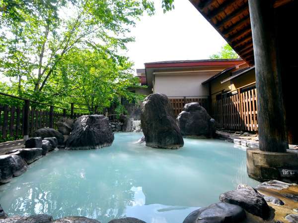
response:
[[[242,62],[243,62],[243,59],[200,59],[200,60],[157,61],[157,62],[145,63],[145,68],[236,65]]]

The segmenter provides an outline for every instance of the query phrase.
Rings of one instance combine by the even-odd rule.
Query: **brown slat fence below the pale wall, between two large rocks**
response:
[[[187,103],[198,102],[201,106],[203,106],[208,111],[208,99],[207,98],[181,98],[181,99],[169,99],[172,104],[175,117],[183,111],[183,107]]]

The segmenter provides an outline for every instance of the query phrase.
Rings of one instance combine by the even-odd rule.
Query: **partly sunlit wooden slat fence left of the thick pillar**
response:
[[[256,89],[213,103],[213,118],[219,128],[258,131]]]

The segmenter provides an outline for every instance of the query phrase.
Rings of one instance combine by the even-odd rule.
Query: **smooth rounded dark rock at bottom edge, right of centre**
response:
[[[183,223],[240,223],[246,218],[245,211],[228,203],[215,203],[190,213]]]

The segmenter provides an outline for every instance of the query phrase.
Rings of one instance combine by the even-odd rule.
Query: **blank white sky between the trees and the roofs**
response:
[[[175,0],[175,9],[165,14],[161,0],[154,1],[155,15],[132,28],[136,41],[128,45],[127,56],[135,68],[153,61],[208,59],[226,43],[188,0]]]

